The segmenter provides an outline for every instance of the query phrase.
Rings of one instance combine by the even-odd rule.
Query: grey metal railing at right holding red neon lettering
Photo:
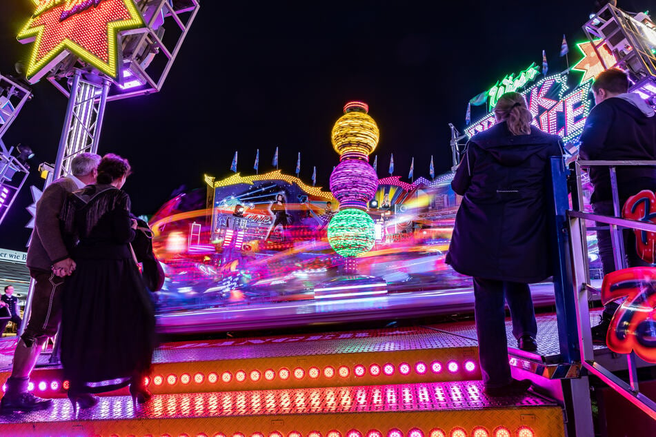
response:
[[[575,162],[575,187],[573,187],[572,200],[573,210],[567,211],[568,233],[570,236],[570,248],[572,255],[572,278],[575,292],[575,307],[577,318],[577,341],[581,354],[581,363],[589,374],[597,376],[600,380],[614,389],[618,394],[629,400],[648,416],[656,420],[656,403],[639,392],[636,356],[634,352],[626,355],[628,367],[628,383],[619,378],[595,360],[592,334],[590,331],[590,314],[588,307],[588,293],[596,289],[590,285],[590,271],[588,266],[588,247],[586,239],[586,220],[599,224],[608,225],[611,242],[613,245],[613,258],[615,269],[626,268],[626,257],[624,256],[623,229],[643,230],[656,232],[656,224],[627,220],[621,216],[622,205],[619,204],[617,190],[617,167],[627,166],[656,166],[656,161],[576,161]],[[582,175],[584,168],[608,167],[610,174],[610,187],[613,196],[613,211],[615,216],[604,216],[590,214],[583,211],[584,197],[582,187]],[[656,188],[656,187],[655,187]]]

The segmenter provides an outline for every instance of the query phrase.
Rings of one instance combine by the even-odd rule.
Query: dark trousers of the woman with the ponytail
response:
[[[510,383],[506,306],[513,319],[513,336],[535,337],[537,323],[528,284],[474,278],[474,312],[483,382],[488,387]]]

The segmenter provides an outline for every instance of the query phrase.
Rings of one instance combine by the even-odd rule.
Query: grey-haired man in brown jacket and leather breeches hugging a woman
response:
[[[28,392],[30,374],[48,337],[57,334],[61,321],[61,289],[64,277],[75,270],[74,261],[61,236],[59,212],[66,196],[95,183],[100,156],[81,153],[75,156],[72,174],[54,181],[37,202],[34,232],[28,248],[27,265],[34,278],[34,296],[30,321],[14,351],[14,366],[7,389],[0,400],[1,411],[35,411],[46,409],[50,399]]]

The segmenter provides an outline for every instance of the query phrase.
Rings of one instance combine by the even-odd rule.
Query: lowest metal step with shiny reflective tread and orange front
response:
[[[77,418],[59,399],[49,411],[0,416],[0,429],[11,436],[564,436],[554,403],[533,394],[490,399],[477,381],[156,395],[136,410],[130,398],[110,396]]]

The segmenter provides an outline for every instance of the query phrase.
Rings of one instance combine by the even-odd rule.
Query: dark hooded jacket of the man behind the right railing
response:
[[[581,134],[579,156],[586,161],[656,160],[656,116],[648,117],[632,103],[611,97],[595,106]],[[608,167],[590,167],[593,203],[613,199]],[[617,167],[619,199],[640,190],[656,190],[655,167]]]

